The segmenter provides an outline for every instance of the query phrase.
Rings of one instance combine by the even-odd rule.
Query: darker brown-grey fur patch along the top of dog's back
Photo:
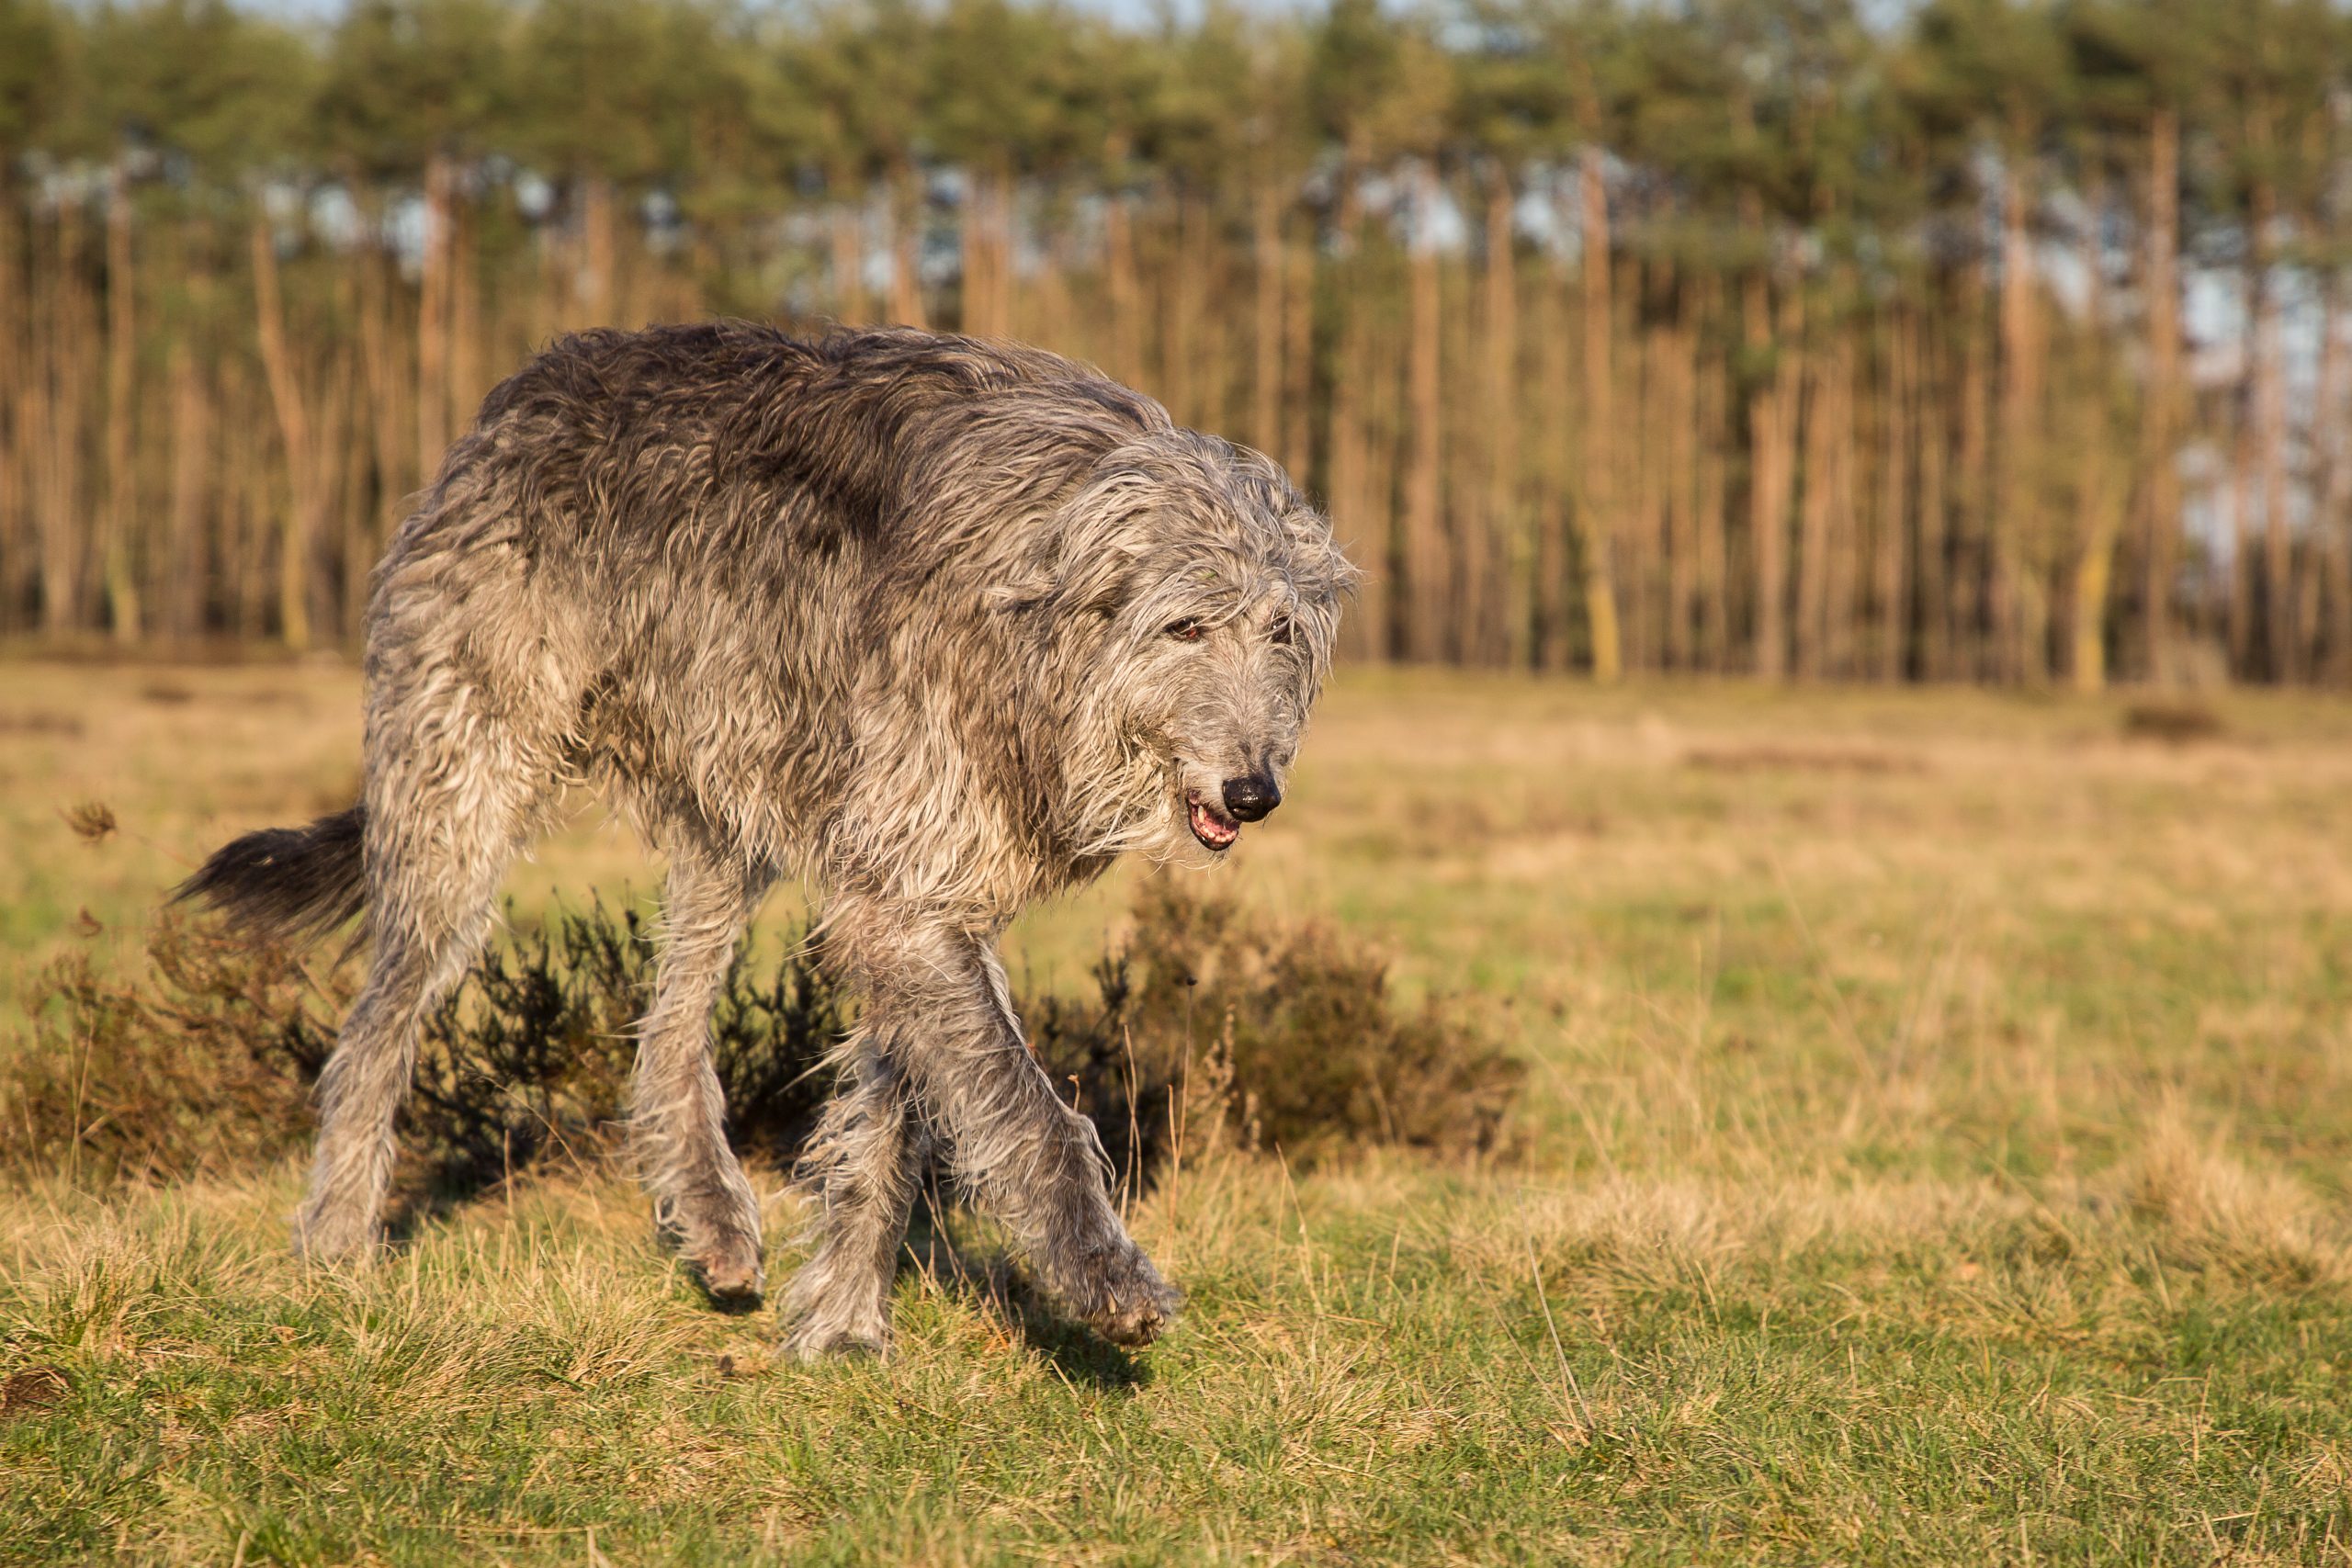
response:
[[[576,562],[597,592],[682,559],[746,578],[847,548],[903,559],[978,498],[943,494],[957,480],[1028,475],[1042,454],[1075,473],[1167,423],[1098,371],[1007,343],[755,322],[588,331],[489,393],[437,480],[468,503],[428,496],[393,557],[513,529],[539,567]]]

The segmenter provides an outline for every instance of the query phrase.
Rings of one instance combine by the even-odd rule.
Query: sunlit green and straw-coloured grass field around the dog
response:
[[[1345,675],[1221,882],[1524,1056],[1519,1152],[1183,1168],[1138,1356],[924,1253],[781,1363],[586,1173],[358,1274],[292,1166],[0,1187],[0,1561],[2352,1561],[2352,708],[2218,715]],[[355,759],[341,668],[0,668],[12,994]]]

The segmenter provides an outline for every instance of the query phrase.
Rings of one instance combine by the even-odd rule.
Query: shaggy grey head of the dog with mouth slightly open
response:
[[[1101,458],[1054,520],[1049,614],[1098,755],[1073,776],[1089,849],[1204,860],[1282,804],[1355,569],[1265,456],[1160,430]]]

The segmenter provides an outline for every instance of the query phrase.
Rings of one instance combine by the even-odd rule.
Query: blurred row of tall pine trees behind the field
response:
[[[0,632],[348,644],[553,334],[1258,444],[1355,658],[2352,684],[2326,0],[0,0]]]

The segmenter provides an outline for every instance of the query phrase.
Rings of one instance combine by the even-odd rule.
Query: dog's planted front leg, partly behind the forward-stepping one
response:
[[[783,1312],[786,1345],[802,1361],[889,1345],[889,1286],[929,1152],[896,1053],[861,1030],[849,1063],[800,1166],[826,1206],[816,1255],[793,1274]]]

